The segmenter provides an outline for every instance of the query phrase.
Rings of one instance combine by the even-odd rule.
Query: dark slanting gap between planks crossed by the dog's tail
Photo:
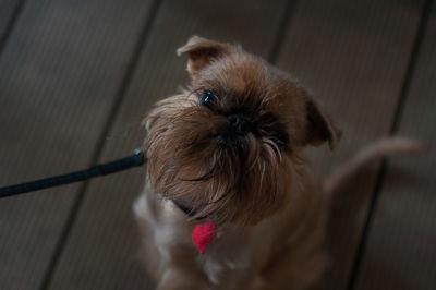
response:
[[[389,129],[389,135],[395,135],[396,133],[398,133],[399,124],[400,124],[401,117],[402,117],[402,113],[404,110],[405,99],[409,95],[410,85],[413,80],[417,59],[419,59],[419,56],[421,52],[425,33],[427,29],[427,24],[428,24],[431,11],[432,11],[432,4],[433,4],[433,0],[426,0],[422,8],[420,24],[416,29],[412,51],[409,57],[408,68],[405,70],[404,77],[402,81],[400,95],[398,97],[391,126]],[[370,233],[371,233],[371,230],[372,230],[372,227],[374,223],[375,210],[377,208],[378,200],[379,200],[379,196],[383,191],[383,185],[384,185],[384,181],[385,181],[385,177],[386,177],[388,168],[389,168],[389,162],[386,158],[384,158],[382,161],[382,165],[379,167],[379,170],[377,172],[377,178],[376,178],[376,182],[374,185],[373,195],[372,195],[372,198],[370,202],[368,210],[366,213],[365,223],[363,226],[362,234],[361,234],[360,242],[358,245],[358,250],[354,255],[354,263],[353,263],[352,271],[350,274],[350,278],[348,281],[348,286],[347,286],[348,290],[354,289],[355,282],[358,279],[358,275],[361,270],[362,261],[363,261],[363,257],[364,257],[365,251],[366,251],[367,240],[370,239]]]

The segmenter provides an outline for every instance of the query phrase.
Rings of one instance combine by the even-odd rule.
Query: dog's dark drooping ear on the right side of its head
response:
[[[342,136],[342,131],[312,97],[306,98],[305,108],[307,126],[304,145],[319,146],[328,141],[330,149],[334,150]]]

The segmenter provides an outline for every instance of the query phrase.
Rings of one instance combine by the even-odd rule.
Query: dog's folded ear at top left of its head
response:
[[[217,59],[225,53],[231,51],[231,46],[221,44],[199,36],[191,36],[187,43],[177,50],[178,56],[187,53],[187,71],[191,75],[210,63],[213,59]]]

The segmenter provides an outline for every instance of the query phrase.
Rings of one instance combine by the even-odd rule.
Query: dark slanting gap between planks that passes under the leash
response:
[[[160,0],[154,0],[148,13],[146,14],[145,23],[143,24],[143,29],[140,33],[138,40],[135,45],[132,57],[126,65],[125,73],[123,74],[120,86],[117,89],[116,99],[109,110],[107,121],[105,122],[105,126],[101,131],[101,134],[97,141],[95,150],[92,155],[89,166],[95,166],[98,162],[98,160],[101,158],[101,152],[105,146],[106,136],[112,129],[114,120],[117,119],[117,116],[120,111],[119,109],[121,108],[125,93],[129,88],[129,85],[131,84],[132,76],[137,68],[137,63],[141,58],[141,51],[144,49],[144,47],[147,44],[146,40],[148,39],[148,35],[153,28],[153,24],[155,23],[160,3],[161,3]],[[71,234],[74,223],[77,219],[80,208],[86,196],[86,191],[88,189],[88,185],[89,185],[89,181],[83,182],[77,191],[76,197],[74,198],[74,202],[71,206],[71,210],[68,215],[66,222],[65,222],[64,227],[62,228],[61,235],[55,247],[53,254],[48,264],[46,275],[43,279],[39,290],[47,290],[51,286],[56,269],[59,265],[59,262],[61,261],[62,253],[66,246],[70,234]]]

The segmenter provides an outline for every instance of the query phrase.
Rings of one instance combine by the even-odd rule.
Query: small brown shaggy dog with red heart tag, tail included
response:
[[[341,132],[304,87],[242,48],[194,36],[184,53],[192,84],[145,119],[147,184],[134,205],[157,288],[314,287],[329,195],[303,149],[334,149]],[[328,191],[365,161],[416,146],[372,146]]]

